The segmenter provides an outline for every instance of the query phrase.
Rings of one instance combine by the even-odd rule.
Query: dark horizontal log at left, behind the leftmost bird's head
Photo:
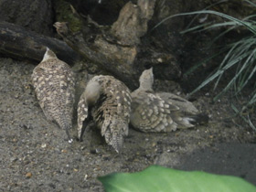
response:
[[[79,59],[79,55],[72,48],[57,38],[41,36],[24,27],[0,22],[2,56],[38,63],[43,58],[46,47],[52,49],[59,59],[69,64]]]

